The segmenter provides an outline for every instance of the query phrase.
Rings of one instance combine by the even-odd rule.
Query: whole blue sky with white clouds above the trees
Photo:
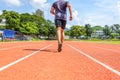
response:
[[[50,7],[57,0],[0,0],[2,10],[32,14],[37,9],[44,11],[44,16],[54,22]],[[67,20],[67,27],[91,24],[92,26],[120,24],[120,0],[67,0],[72,6],[73,20]],[[69,12],[67,11],[69,18]]]

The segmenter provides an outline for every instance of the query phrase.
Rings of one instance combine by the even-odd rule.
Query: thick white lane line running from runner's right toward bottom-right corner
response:
[[[68,45],[69,47],[71,47],[72,49],[76,50],[77,52],[81,53],[82,55],[86,56],[87,58],[89,58],[89,59],[95,61],[96,63],[102,65],[102,66],[105,67],[106,69],[108,69],[108,70],[110,70],[111,72],[113,72],[113,73],[117,74],[118,76],[120,76],[120,72],[119,72],[119,71],[117,71],[117,70],[111,68],[110,66],[108,66],[108,65],[106,65],[106,64],[104,64],[104,63],[102,63],[102,62],[100,62],[99,60],[97,60],[97,59],[95,59],[95,58],[93,58],[93,57],[87,55],[87,54],[84,53],[83,51],[81,51],[81,50],[79,50],[79,49],[77,49],[77,48],[75,48],[75,47],[73,47],[73,46],[71,46],[71,45],[69,45],[69,44],[67,44],[67,45]]]

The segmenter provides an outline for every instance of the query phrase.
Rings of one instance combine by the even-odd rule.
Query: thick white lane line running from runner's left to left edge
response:
[[[8,67],[10,67],[10,66],[12,66],[12,65],[14,65],[14,64],[17,64],[17,63],[19,63],[19,62],[21,62],[21,61],[23,61],[23,60],[29,58],[30,56],[35,55],[36,53],[40,52],[41,50],[44,50],[44,49],[46,49],[46,48],[48,48],[48,47],[50,47],[50,46],[52,46],[52,45],[53,45],[53,44],[50,44],[50,45],[48,45],[48,46],[45,46],[45,47],[39,49],[38,51],[35,51],[35,52],[33,52],[33,53],[31,53],[31,54],[29,54],[29,55],[23,57],[23,58],[20,58],[20,59],[14,61],[14,62],[11,62],[11,63],[9,63],[9,64],[7,64],[7,65],[1,67],[1,68],[0,68],[0,71],[3,71],[3,70],[5,70],[6,68],[8,68]]]

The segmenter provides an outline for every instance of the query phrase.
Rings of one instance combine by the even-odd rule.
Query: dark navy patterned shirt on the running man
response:
[[[55,9],[55,19],[67,20],[67,1],[56,1],[52,7]]]

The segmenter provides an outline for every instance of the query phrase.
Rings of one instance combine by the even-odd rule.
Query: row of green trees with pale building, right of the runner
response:
[[[85,26],[74,25],[70,29],[66,30],[66,35],[71,38],[99,38],[99,39],[120,39],[120,25],[113,24],[111,26],[91,26],[86,24]]]

